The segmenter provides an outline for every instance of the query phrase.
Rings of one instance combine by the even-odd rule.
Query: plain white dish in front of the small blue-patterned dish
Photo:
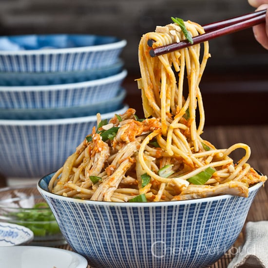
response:
[[[83,256],[66,249],[17,246],[3,247],[0,250],[0,267],[87,268],[87,266],[88,262]]]

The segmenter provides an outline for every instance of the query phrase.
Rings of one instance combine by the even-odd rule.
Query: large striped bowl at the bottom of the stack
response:
[[[102,114],[110,119],[122,109]],[[0,120],[0,174],[38,178],[60,168],[91,133],[96,115],[48,120]]]

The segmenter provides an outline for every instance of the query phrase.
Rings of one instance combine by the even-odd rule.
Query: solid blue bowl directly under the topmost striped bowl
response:
[[[83,71],[17,73],[0,72],[0,86],[44,86],[71,84],[114,76],[122,72],[123,61],[119,59],[110,66]]]

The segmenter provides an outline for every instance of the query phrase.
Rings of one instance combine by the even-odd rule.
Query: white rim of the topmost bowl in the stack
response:
[[[23,38],[23,36],[24,35],[21,35],[21,38]],[[25,36],[29,36],[29,35],[25,35]],[[46,36],[49,36],[49,35],[46,35]],[[73,36],[78,36],[78,35],[73,35]],[[126,39],[117,38],[113,36],[98,36],[98,35],[85,35],[85,36],[94,36],[97,38],[112,37],[112,38],[115,38],[115,42],[108,43],[108,44],[101,44],[101,45],[69,47],[69,48],[0,50],[0,56],[16,56],[16,55],[19,55],[19,56],[33,55],[34,56],[34,55],[68,54],[68,53],[80,53],[80,52],[102,52],[106,50],[120,49],[126,46],[127,44]],[[13,37],[13,36],[7,36],[7,38],[10,38],[10,37]],[[16,36],[16,37],[20,37],[20,36]]]

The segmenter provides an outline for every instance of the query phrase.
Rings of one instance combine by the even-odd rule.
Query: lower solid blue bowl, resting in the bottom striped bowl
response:
[[[122,108],[125,96],[126,96],[126,90],[120,89],[118,95],[109,100],[84,106],[44,108],[44,109],[0,108],[0,119],[42,120],[42,119],[82,117],[82,116],[96,115],[97,113],[106,114]]]

